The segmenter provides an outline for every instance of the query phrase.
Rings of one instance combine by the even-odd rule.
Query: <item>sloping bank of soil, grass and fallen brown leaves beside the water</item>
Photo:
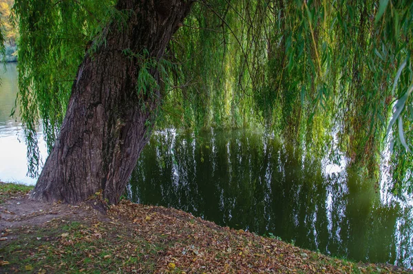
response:
[[[123,201],[41,204],[0,183],[0,273],[413,273],[359,264],[218,226],[189,213]]]

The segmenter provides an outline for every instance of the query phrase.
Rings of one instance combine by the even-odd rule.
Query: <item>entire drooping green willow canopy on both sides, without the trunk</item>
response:
[[[85,53],[105,47],[108,23],[130,16],[115,5],[15,0],[32,174],[39,120],[51,149]],[[370,176],[390,158],[394,191],[413,193],[412,33],[408,0],[203,0],[167,46],[165,65],[135,54],[147,64],[139,67],[142,88],[165,94],[156,127],[260,124],[310,154],[334,158],[339,149]],[[145,78],[153,67],[163,70],[160,83]]]

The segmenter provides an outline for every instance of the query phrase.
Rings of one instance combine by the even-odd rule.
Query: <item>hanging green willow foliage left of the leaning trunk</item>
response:
[[[19,101],[30,158],[29,174],[39,171],[39,119],[48,149],[63,121],[70,91],[88,42],[113,1],[16,0],[19,23]]]

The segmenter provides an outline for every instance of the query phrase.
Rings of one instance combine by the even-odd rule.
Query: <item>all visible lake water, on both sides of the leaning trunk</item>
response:
[[[25,176],[25,140],[10,118],[17,92],[15,65],[1,75],[0,180]],[[46,156],[40,136],[43,159]],[[412,201],[380,191],[387,183],[362,178],[346,158],[331,162],[279,143],[260,131],[175,130],[153,134],[127,194],[143,204],[175,207],[235,229],[352,260],[413,264]]]

